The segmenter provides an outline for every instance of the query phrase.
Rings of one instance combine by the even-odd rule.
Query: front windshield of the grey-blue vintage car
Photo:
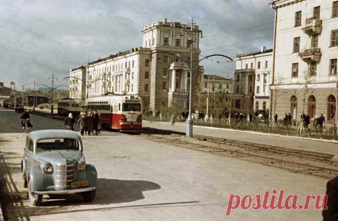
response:
[[[80,150],[77,139],[43,139],[36,143],[36,151],[55,151],[55,150]]]

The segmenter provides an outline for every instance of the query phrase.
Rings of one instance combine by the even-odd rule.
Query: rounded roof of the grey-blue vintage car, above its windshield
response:
[[[81,137],[74,131],[68,130],[39,130],[30,132],[28,138],[33,140],[49,139],[49,138],[70,138],[81,139]]]

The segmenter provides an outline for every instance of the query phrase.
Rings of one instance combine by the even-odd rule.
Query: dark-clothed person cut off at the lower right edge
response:
[[[338,163],[338,155],[333,157],[333,161]],[[326,184],[327,209],[323,210],[322,214],[324,221],[338,220],[338,176],[329,180]]]

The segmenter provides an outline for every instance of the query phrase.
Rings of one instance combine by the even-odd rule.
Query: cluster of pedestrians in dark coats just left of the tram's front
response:
[[[75,119],[72,113],[69,113],[68,117],[65,119],[65,125],[67,130],[74,131]],[[88,112],[86,114],[81,114],[80,118],[77,121],[81,135],[98,135],[101,133],[101,120],[100,114],[96,110],[94,112]]]

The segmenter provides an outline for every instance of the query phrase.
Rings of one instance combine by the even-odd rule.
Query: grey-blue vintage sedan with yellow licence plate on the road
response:
[[[21,162],[24,187],[34,206],[43,195],[82,194],[93,201],[96,194],[95,166],[86,164],[81,137],[73,131],[40,130],[26,137]]]

